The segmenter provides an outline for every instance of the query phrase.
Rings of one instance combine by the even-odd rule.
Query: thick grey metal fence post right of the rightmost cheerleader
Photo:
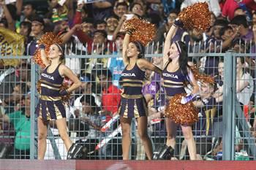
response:
[[[234,115],[233,115],[233,53],[227,51],[224,57],[224,89],[223,89],[223,155],[222,159],[225,161],[233,160],[234,154]],[[236,65],[235,65],[236,66]],[[236,71],[236,68],[235,68]]]

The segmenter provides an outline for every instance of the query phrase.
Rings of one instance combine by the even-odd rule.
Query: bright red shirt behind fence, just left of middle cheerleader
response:
[[[112,113],[118,111],[118,105],[121,99],[121,90],[119,90],[115,85],[110,85],[108,90],[103,90],[102,92],[102,107],[103,109]],[[111,116],[107,115],[107,121],[110,120]]]

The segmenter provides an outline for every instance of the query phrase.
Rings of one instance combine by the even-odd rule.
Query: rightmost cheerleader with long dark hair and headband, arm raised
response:
[[[171,40],[173,39],[173,36],[175,36],[178,27],[181,27],[182,25],[183,23],[181,23],[180,20],[176,20],[166,36],[163,53],[163,68],[165,69],[162,71],[162,77],[164,80],[164,88],[167,100],[170,100],[170,98],[178,93],[186,93],[184,90],[184,82],[189,82],[192,85],[192,93],[186,97],[181,98],[181,104],[187,104],[187,102],[191,101],[192,98],[196,96],[199,88],[197,86],[197,82],[195,81],[194,75],[192,74],[192,71],[189,69],[187,64],[188,55],[186,45],[181,41],[173,42],[171,44]],[[176,114],[186,113],[177,112]],[[166,128],[167,146],[175,148],[177,124],[173,120],[170,120],[170,118],[166,118]],[[192,126],[181,124],[181,129],[184,134],[184,139],[187,141],[189,157],[191,160],[195,160],[196,147],[195,139],[192,134]]]

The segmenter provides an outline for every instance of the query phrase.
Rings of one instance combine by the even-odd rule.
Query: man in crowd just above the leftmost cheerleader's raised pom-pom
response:
[[[34,18],[32,20],[31,34],[34,37],[28,45],[29,55],[34,55],[36,51],[37,41],[44,34],[45,22],[42,18]]]

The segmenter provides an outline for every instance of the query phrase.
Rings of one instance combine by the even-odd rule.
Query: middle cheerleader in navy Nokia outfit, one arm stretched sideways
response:
[[[118,108],[121,117],[123,159],[129,159],[131,121],[132,117],[135,117],[138,123],[138,134],[145,147],[146,155],[151,160],[152,144],[147,131],[148,108],[142,87],[146,69],[159,74],[162,74],[162,71],[144,59],[145,48],[140,42],[129,42],[131,34],[131,31],[127,31],[124,36],[122,55],[125,69],[121,73],[124,93],[121,94],[121,103]]]

